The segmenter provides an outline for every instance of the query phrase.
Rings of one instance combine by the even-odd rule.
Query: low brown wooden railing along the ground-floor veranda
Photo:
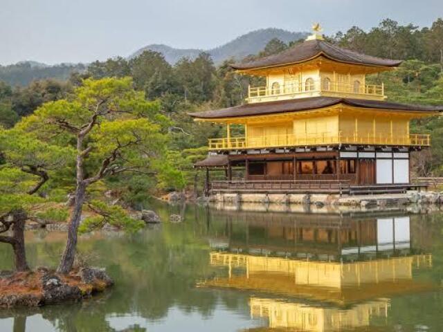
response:
[[[349,193],[347,180],[212,181],[210,192],[336,192]]]

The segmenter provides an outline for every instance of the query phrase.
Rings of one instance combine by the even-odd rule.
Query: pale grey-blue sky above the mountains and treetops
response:
[[[431,26],[442,0],[0,0],[0,64],[127,56],[148,44],[209,49],[259,28],[332,35],[384,18]]]

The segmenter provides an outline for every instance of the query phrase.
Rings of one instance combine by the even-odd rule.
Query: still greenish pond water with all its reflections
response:
[[[158,227],[82,237],[111,291],[0,311],[0,331],[443,331],[442,212],[154,208]],[[27,237],[31,264],[56,266],[65,234]]]

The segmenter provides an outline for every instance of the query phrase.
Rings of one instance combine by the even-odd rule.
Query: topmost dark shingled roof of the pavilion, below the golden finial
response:
[[[372,57],[356,53],[352,50],[346,50],[338,46],[329,44],[324,40],[309,40],[284,50],[275,55],[262,57],[251,62],[231,64],[230,66],[237,70],[246,70],[253,68],[282,66],[284,64],[296,64],[314,59],[323,55],[329,59],[347,64],[361,64],[366,66],[396,67],[401,64],[401,60],[383,59],[381,57]]]

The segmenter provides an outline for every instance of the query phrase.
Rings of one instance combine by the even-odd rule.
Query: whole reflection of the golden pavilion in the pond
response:
[[[228,276],[204,286],[253,291],[251,317],[296,331],[369,326],[388,317],[387,297],[433,287],[413,280],[413,270],[432,265],[418,218],[286,216],[227,214],[210,264]]]

